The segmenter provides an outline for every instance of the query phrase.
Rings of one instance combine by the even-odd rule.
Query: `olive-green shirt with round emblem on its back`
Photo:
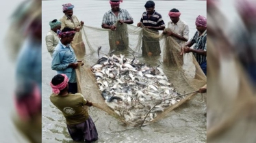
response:
[[[60,96],[52,94],[51,102],[60,110],[66,118],[66,124],[77,125],[88,119],[88,112],[84,107],[86,99],[81,93]]]

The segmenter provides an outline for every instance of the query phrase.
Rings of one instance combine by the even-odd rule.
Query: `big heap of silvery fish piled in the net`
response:
[[[137,59],[124,55],[103,56],[91,66],[102,97],[126,123],[140,124],[152,121],[157,112],[176,104],[181,97],[159,67],[149,67]],[[168,99],[162,101],[162,99]],[[155,106],[159,101],[161,104]],[[155,108],[153,108],[155,106]],[[146,116],[149,110],[151,112]]]

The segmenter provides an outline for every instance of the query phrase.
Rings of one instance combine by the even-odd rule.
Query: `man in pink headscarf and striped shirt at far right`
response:
[[[206,76],[207,70],[207,61],[206,61],[206,50],[207,50],[207,20],[204,16],[198,16],[196,18],[196,33],[190,39],[190,42],[185,44],[181,48],[181,54],[193,52],[194,57],[196,58],[196,61],[199,63],[201,69],[203,69],[203,73]],[[190,48],[193,46],[193,48]]]

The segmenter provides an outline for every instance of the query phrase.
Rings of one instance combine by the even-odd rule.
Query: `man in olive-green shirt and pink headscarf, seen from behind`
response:
[[[66,118],[68,133],[74,141],[98,140],[97,129],[84,106],[92,106],[81,93],[68,93],[68,76],[57,74],[51,80],[50,100]]]

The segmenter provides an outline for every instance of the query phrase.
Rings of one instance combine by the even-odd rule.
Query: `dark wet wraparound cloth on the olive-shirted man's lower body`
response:
[[[93,142],[98,140],[98,132],[90,116],[84,123],[67,125],[67,128],[71,138],[75,141]]]

